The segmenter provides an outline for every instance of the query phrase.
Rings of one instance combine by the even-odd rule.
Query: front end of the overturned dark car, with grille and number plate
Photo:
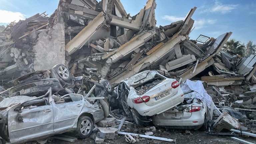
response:
[[[47,92],[49,88],[52,88],[52,92],[59,91],[62,86],[58,79],[41,79],[35,80],[22,85],[17,85],[10,89],[10,97],[17,95],[36,96],[40,93]]]

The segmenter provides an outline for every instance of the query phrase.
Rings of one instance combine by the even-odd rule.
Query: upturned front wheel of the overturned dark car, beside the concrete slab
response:
[[[63,81],[70,82],[72,80],[71,73],[64,64],[57,64],[52,69]]]

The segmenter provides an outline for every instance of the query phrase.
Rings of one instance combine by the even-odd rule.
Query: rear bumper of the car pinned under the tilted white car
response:
[[[202,112],[192,112],[187,119],[166,119],[163,114],[152,117],[153,124],[156,127],[168,127],[178,129],[199,129],[204,125],[204,114]]]

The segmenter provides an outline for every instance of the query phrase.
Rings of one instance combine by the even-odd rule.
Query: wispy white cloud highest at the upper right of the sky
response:
[[[204,9],[203,11],[201,11],[201,13],[205,13],[205,12],[212,12],[212,13],[222,13],[222,14],[226,14],[231,12],[232,10],[237,8],[237,4],[222,4],[218,1],[215,1],[213,6],[201,6],[200,9]],[[206,8],[206,7],[210,7],[210,8]]]

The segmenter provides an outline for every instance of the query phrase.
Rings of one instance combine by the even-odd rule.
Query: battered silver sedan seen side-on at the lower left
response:
[[[23,143],[73,131],[78,138],[91,135],[94,123],[104,118],[98,106],[83,95],[58,97],[51,88],[40,97],[16,96],[0,103],[0,144]]]

